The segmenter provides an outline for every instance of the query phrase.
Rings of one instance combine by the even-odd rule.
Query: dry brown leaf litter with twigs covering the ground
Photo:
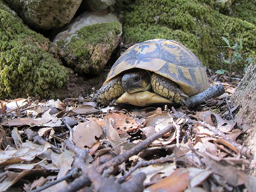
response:
[[[100,108],[89,96],[1,101],[0,192],[254,192],[250,127],[224,101],[236,85],[193,110]]]

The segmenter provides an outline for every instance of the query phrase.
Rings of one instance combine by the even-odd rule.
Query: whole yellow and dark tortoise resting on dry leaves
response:
[[[118,98],[116,103],[144,106],[148,103],[133,100],[151,98],[153,91],[160,103],[186,105],[186,98],[208,87],[206,71],[195,54],[179,42],[151,39],[131,46],[117,59],[93,100],[108,105]]]

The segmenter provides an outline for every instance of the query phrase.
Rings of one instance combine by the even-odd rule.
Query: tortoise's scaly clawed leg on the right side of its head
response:
[[[167,79],[163,76],[160,76],[156,73],[151,76],[151,84],[152,89],[157,94],[167,98],[175,103],[179,103],[181,105],[187,105],[184,98],[189,98],[182,90],[180,90],[179,86]]]

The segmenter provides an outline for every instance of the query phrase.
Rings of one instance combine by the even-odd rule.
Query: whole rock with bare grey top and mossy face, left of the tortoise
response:
[[[117,47],[122,25],[114,15],[86,12],[54,38],[65,52],[65,63],[79,74],[100,74]]]

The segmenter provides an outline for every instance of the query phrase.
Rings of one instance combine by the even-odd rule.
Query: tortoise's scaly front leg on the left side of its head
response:
[[[117,76],[105,85],[102,85],[93,98],[93,101],[96,100],[103,105],[108,105],[113,99],[120,97],[124,92],[124,88],[122,87],[122,77]]]

